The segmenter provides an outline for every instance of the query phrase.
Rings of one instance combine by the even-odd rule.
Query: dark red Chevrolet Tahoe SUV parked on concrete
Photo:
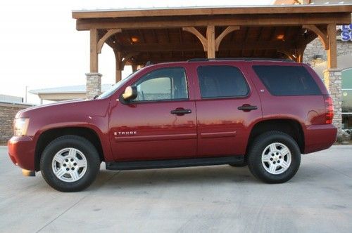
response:
[[[14,164],[51,187],[79,191],[106,169],[246,166],[286,182],[301,154],[336,139],[319,76],[287,60],[190,60],[150,65],[95,100],[32,107],[15,116]]]

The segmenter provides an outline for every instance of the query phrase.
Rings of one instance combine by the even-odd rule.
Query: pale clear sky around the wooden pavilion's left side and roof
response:
[[[269,5],[272,0],[11,0],[0,1],[0,94],[25,98],[27,90],[85,85],[89,72],[89,32],[75,29],[71,11],[82,9],[177,6]],[[115,56],[108,46],[99,55],[103,84],[115,81]],[[125,67],[122,76],[132,70]],[[27,93],[27,102],[39,104]]]

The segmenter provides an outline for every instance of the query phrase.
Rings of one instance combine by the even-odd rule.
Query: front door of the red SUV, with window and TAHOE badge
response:
[[[110,138],[115,160],[175,159],[196,156],[196,107],[189,100],[183,67],[154,69],[133,86],[130,104],[111,109]]]

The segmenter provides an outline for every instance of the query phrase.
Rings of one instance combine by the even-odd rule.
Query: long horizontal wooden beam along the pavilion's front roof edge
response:
[[[216,26],[286,26],[351,23],[351,13],[329,14],[270,14],[270,15],[210,15],[187,17],[98,18],[77,20],[78,30],[96,29],[153,29],[175,27]]]

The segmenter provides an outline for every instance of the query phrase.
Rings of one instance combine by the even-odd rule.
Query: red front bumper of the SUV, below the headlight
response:
[[[25,170],[34,171],[34,142],[32,138],[12,137],[7,142],[8,155],[16,166]]]

